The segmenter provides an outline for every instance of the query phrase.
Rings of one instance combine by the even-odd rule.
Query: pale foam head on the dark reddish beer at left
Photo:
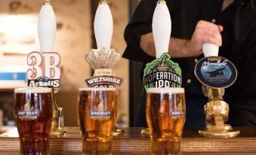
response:
[[[46,87],[23,87],[14,89],[14,93],[51,93],[51,88]]]

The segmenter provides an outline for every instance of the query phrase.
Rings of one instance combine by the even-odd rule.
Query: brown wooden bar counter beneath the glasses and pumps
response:
[[[51,154],[82,154],[82,138],[78,127],[66,127],[65,135],[51,137]],[[150,154],[150,139],[142,137],[143,128],[125,128],[122,135],[114,136],[113,155]],[[240,135],[236,138],[202,138],[199,129],[185,129],[181,141],[182,155],[186,154],[256,154],[256,129],[238,128]],[[0,135],[0,154],[20,154],[20,141],[17,129],[11,129]]]

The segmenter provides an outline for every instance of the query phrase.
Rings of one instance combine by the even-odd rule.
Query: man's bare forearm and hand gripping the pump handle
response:
[[[190,40],[171,38],[169,53],[174,58],[199,56],[202,53],[203,43],[212,43],[221,46],[222,26],[200,20]],[[153,33],[140,36],[140,48],[150,56],[156,56]]]

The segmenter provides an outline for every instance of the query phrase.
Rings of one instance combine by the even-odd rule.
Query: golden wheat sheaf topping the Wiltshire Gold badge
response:
[[[113,68],[116,62],[120,59],[120,54],[114,49],[101,47],[92,49],[85,55],[85,60],[91,65],[91,68]]]

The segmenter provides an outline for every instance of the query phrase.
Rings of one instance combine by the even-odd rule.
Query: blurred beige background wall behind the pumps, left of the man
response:
[[[14,88],[26,87],[26,58],[28,53],[39,51],[37,22],[43,1],[5,0],[0,1],[0,131],[15,126],[13,116]],[[64,126],[78,126],[78,89],[85,87],[85,79],[93,74],[93,69],[85,61],[85,54],[96,48],[94,37],[94,15],[98,6],[95,0],[54,0],[57,32],[54,51],[61,56],[61,88],[55,94],[56,102],[63,108]],[[113,14],[113,39],[111,47],[122,55],[125,50],[124,30],[132,10],[138,1],[109,0]],[[121,58],[116,63],[113,74],[123,78],[118,96],[118,126],[132,126],[140,87],[134,90],[132,82],[141,86],[134,67],[140,62],[129,62]],[[129,73],[130,72],[130,73]],[[136,78],[135,78],[136,79]],[[129,94],[133,93],[134,96]],[[133,103],[131,103],[133,102]],[[132,114],[134,113],[134,114]]]

